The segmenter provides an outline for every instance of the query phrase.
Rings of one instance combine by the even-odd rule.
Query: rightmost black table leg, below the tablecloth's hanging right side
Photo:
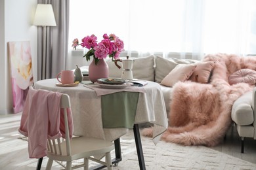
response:
[[[134,137],[135,137],[135,143],[136,143],[136,148],[137,148],[140,170],[144,170],[144,169],[146,169],[146,167],[145,167],[144,155],[143,155],[143,151],[142,151],[142,144],[141,144],[141,140],[140,140],[140,131],[139,131],[138,124],[135,124],[133,126],[133,133],[134,133]]]

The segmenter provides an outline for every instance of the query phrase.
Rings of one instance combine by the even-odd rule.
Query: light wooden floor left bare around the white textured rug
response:
[[[35,169],[37,160],[28,159],[27,143],[20,144],[21,114],[0,115],[0,169],[22,169],[22,165],[31,163]],[[245,138],[244,154],[241,153],[241,139],[236,127],[232,126],[226,133],[226,139],[218,146],[211,147],[230,156],[240,158],[251,163],[256,163],[256,140]],[[30,160],[30,162],[28,162]],[[26,168],[28,169],[28,167]]]

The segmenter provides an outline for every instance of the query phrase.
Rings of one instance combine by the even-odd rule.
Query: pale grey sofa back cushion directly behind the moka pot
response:
[[[154,81],[154,56],[148,56],[144,58],[133,58],[135,62],[133,63],[133,78],[138,78],[142,80]],[[111,59],[107,59],[110,77],[121,78],[123,72],[123,67],[118,69]],[[117,62],[120,66],[121,63]]]

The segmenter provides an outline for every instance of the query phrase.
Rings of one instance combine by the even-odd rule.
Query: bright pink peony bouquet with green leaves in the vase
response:
[[[89,49],[83,58],[86,57],[86,60],[89,61],[91,56],[93,56],[95,65],[97,65],[99,59],[104,59],[107,56],[112,58],[112,61],[118,60],[120,53],[124,50],[123,41],[113,33],[110,35],[105,33],[102,41],[98,43],[95,35],[84,37],[81,44],[79,44],[78,39],[74,39],[72,47],[76,49],[78,45]]]

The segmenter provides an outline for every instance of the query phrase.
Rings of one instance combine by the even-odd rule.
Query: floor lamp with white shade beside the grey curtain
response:
[[[51,4],[37,4],[35,10],[35,18],[33,25],[43,27],[42,30],[42,68],[41,68],[41,79],[46,78],[46,62],[47,62],[47,26],[56,26],[54,18],[53,7]]]

